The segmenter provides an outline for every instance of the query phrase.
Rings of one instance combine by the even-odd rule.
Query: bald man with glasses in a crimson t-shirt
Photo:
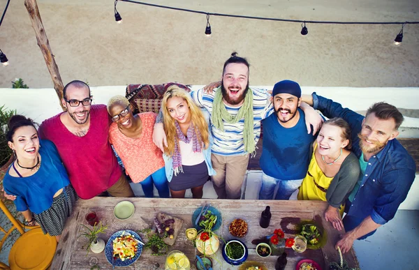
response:
[[[43,121],[39,136],[54,142],[71,184],[84,200],[108,191],[115,197],[134,197],[108,142],[111,123],[105,105],[91,105],[84,82],[69,82],[61,100],[66,112]]]

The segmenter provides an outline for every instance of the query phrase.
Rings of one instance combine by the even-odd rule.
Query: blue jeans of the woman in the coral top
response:
[[[159,196],[161,198],[168,198],[169,197],[169,186],[168,186],[168,179],[166,179],[166,171],[164,167],[156,172],[150,174],[146,179],[140,182],[142,191],[144,191],[145,197],[152,198],[154,197],[154,186],[156,186],[157,191],[159,191]]]

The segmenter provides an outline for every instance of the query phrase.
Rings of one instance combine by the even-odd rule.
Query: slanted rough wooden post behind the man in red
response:
[[[41,49],[47,68],[50,71],[52,82],[54,83],[54,89],[59,98],[59,105],[64,110],[64,107],[61,103],[61,98],[63,97],[64,84],[59,75],[59,70],[57,63],[55,63],[54,54],[52,54],[50,41],[48,41],[47,33],[42,24],[41,15],[39,14],[38,4],[36,0],[25,0],[24,6],[26,6],[29,17],[31,17],[32,28],[34,28],[36,40],[38,41],[38,46]]]

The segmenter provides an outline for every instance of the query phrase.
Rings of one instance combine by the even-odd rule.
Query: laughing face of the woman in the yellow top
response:
[[[342,128],[329,123],[323,124],[317,136],[318,153],[322,156],[335,156],[348,143],[349,140],[342,137]]]

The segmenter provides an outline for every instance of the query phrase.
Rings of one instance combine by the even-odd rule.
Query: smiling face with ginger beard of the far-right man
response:
[[[362,129],[358,134],[360,147],[364,153],[378,153],[389,140],[399,135],[394,119],[378,119],[374,112],[362,121]]]

